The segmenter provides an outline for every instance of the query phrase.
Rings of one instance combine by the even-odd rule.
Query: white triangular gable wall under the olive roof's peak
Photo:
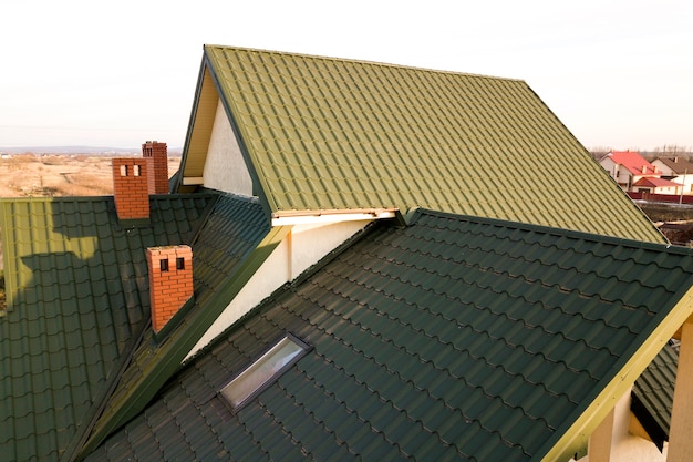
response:
[[[252,179],[221,100],[217,103],[203,178],[206,187],[252,196]]]

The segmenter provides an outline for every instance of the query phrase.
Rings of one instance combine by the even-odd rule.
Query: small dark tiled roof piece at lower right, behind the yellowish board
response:
[[[660,448],[669,441],[679,355],[666,345],[633,386],[631,410]]]

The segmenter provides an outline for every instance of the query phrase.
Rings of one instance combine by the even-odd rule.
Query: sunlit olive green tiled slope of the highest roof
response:
[[[523,81],[218,45],[203,70],[273,216],[422,206],[664,240]]]

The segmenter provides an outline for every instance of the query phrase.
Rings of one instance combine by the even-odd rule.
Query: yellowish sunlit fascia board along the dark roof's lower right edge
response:
[[[580,412],[566,431],[560,432],[558,440],[550,439],[537,455],[544,462],[570,459],[580,448],[587,445],[590,434],[613,409],[617,401],[628,392],[629,388],[652,362],[658,352],[672,338],[676,329],[693,314],[693,286],[683,290],[679,301],[656,325],[654,330],[640,342],[640,347],[620,367],[618,373],[601,389],[597,397]],[[560,431],[560,430],[559,430]],[[558,434],[558,433],[557,433]],[[542,454],[542,455],[541,455]]]

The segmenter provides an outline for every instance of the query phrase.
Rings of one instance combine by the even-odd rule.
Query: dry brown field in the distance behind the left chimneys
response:
[[[168,158],[168,173],[180,157]],[[0,197],[102,196],[113,194],[111,157],[20,154],[0,158]]]

